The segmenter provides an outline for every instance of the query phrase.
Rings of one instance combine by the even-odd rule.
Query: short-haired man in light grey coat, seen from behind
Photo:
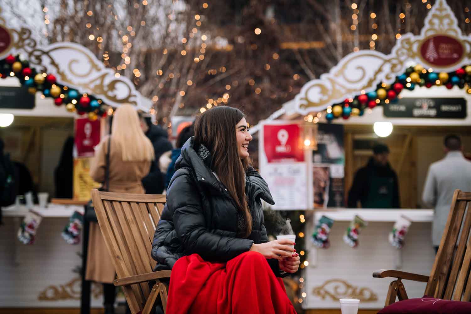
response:
[[[471,161],[463,156],[460,137],[447,135],[444,144],[446,156],[430,165],[422,193],[422,201],[435,209],[432,226],[435,252],[447,224],[453,193],[456,189],[471,191]]]

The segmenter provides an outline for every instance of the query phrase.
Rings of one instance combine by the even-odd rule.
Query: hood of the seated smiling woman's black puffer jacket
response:
[[[211,169],[198,155],[195,148],[197,147],[195,147],[194,137],[190,137],[181,148],[181,155],[175,162],[175,169],[178,170],[184,167],[191,168],[195,171],[198,183],[210,185],[216,190],[223,192],[224,187],[222,183],[220,183],[216,176],[214,176]],[[207,158],[211,159],[211,156],[208,156]],[[205,158],[205,160],[208,160],[207,158]],[[245,175],[248,195],[251,197],[257,197],[260,195],[262,200],[274,205],[275,201],[273,201],[268,184],[260,174],[252,167],[249,167]]]

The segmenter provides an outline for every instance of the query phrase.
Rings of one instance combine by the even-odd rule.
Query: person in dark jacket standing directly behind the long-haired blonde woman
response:
[[[161,126],[154,125],[149,116],[139,114],[141,128],[154,146],[155,160],[149,174],[142,179],[142,185],[147,194],[161,194],[164,188],[165,174],[162,174],[158,165],[162,153],[172,150],[167,132]]]

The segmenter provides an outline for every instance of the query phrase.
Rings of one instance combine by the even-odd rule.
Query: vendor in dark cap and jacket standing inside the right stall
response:
[[[373,147],[373,157],[355,174],[349,192],[348,206],[362,208],[400,208],[398,176],[391,168],[389,148],[384,144]]]

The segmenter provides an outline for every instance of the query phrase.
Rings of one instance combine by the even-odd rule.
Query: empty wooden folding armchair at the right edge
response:
[[[402,279],[427,282],[424,295],[433,298],[471,301],[471,280],[468,280],[471,266],[471,237],[468,239],[471,228],[470,201],[471,192],[455,190],[430,276],[384,269],[373,273],[375,278],[397,278],[389,285],[385,306],[396,302],[396,297],[399,301],[408,299]],[[457,242],[461,228],[463,231]]]

